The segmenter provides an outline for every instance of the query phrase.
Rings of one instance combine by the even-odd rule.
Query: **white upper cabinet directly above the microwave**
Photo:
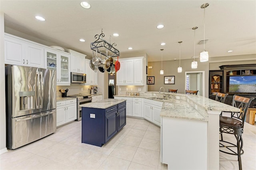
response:
[[[66,50],[66,52],[70,53],[71,72],[82,73],[82,74],[85,73],[86,55],[73,50]]]

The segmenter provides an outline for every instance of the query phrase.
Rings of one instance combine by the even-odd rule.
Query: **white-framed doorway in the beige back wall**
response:
[[[185,72],[185,90],[198,90],[197,95],[205,96],[204,71]]]

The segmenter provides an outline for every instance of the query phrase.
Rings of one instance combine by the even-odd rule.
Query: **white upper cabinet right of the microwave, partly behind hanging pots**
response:
[[[90,68],[90,60],[85,59],[86,83],[84,85],[98,85],[98,72]]]

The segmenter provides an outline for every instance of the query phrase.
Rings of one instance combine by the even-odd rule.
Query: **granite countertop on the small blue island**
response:
[[[116,104],[122,103],[126,100],[124,99],[104,99],[100,100],[98,102],[92,102],[92,103],[86,103],[86,104],[81,104],[80,106],[86,107],[86,108],[99,108],[99,109],[106,109],[111,106],[114,106]]]

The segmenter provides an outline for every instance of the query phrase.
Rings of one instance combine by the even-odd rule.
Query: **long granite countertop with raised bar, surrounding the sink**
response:
[[[231,112],[240,111],[239,108],[236,108],[221,102],[217,102],[215,100],[205,98],[203,96],[165,92],[165,94],[170,95],[170,99],[158,100],[158,99],[154,99],[154,97],[162,97],[163,92],[162,93],[146,92],[145,94],[147,95],[142,95],[142,96],[116,95],[116,96],[117,97],[139,97],[139,98],[146,98],[146,99],[163,102],[160,116],[170,117],[170,118],[182,118],[182,119],[190,119],[190,120],[208,121],[207,111],[209,110],[231,111]],[[154,94],[156,94],[156,96],[154,96]]]

